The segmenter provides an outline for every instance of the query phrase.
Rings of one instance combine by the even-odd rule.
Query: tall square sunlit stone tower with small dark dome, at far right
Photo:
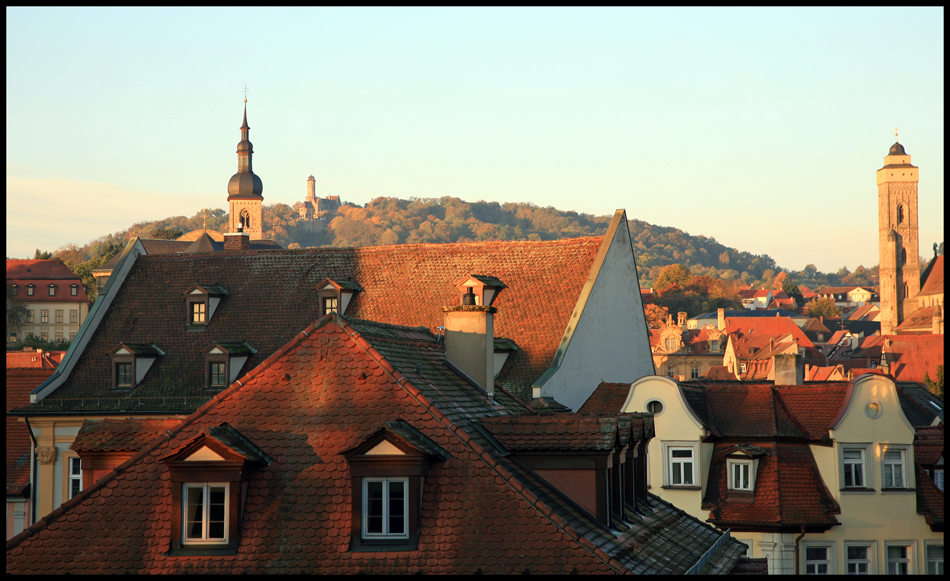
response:
[[[882,335],[893,334],[894,328],[917,308],[919,178],[918,168],[910,164],[910,154],[895,142],[884,157],[884,167],[877,170]]]

